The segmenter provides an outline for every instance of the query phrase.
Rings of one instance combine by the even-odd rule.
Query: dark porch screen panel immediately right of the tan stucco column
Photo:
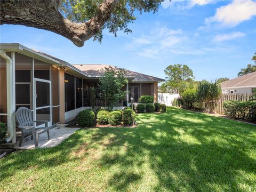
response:
[[[65,111],[75,109],[75,77],[65,73]]]

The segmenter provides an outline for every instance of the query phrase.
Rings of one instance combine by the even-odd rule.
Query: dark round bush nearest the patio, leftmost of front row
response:
[[[77,115],[77,122],[81,126],[92,126],[94,124],[95,115],[92,110],[86,109]]]

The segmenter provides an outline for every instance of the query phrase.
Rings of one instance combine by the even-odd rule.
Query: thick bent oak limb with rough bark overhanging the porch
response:
[[[0,25],[25,25],[45,29],[70,39],[76,46],[98,34],[110,19],[117,0],[105,0],[93,17],[84,22],[72,22],[59,12],[61,0],[1,1]]]

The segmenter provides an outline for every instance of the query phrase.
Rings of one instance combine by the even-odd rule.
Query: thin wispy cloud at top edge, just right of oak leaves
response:
[[[215,0],[165,0],[162,3],[162,6],[164,7],[164,9],[168,9],[168,8],[175,8],[178,10],[187,10],[187,9],[191,9],[194,6],[204,6],[207,4],[211,4],[211,3],[215,3],[217,1]]]

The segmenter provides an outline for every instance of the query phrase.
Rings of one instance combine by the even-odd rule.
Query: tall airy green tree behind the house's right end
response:
[[[171,93],[182,93],[188,87],[194,84],[193,71],[187,66],[182,64],[170,65],[164,70],[166,82],[164,82],[160,90]]]

